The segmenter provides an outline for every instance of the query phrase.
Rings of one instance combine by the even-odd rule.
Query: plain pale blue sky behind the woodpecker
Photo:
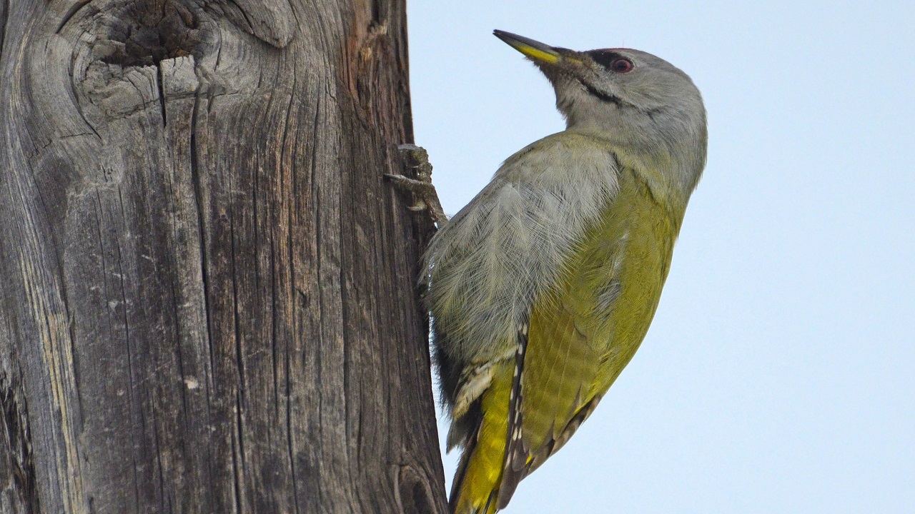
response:
[[[708,166],[648,337],[504,512],[915,512],[912,3],[408,9],[416,143],[448,213],[564,128],[494,28],[650,51],[708,110]]]

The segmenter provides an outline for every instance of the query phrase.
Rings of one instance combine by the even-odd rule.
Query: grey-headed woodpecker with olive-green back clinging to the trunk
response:
[[[425,253],[455,514],[503,509],[594,412],[648,331],[705,167],[702,96],[667,61],[495,36],[544,72],[566,128],[511,155]]]

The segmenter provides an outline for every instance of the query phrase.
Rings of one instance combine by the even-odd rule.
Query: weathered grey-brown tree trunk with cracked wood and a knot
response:
[[[0,512],[444,512],[403,0],[0,30]]]

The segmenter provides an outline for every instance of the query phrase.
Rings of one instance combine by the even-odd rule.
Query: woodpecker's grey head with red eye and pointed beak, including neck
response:
[[[602,48],[579,52],[496,30],[553,83],[568,130],[620,145],[664,148],[679,164],[705,166],[705,106],[693,80],[648,52]],[[695,177],[696,179],[698,177]]]

